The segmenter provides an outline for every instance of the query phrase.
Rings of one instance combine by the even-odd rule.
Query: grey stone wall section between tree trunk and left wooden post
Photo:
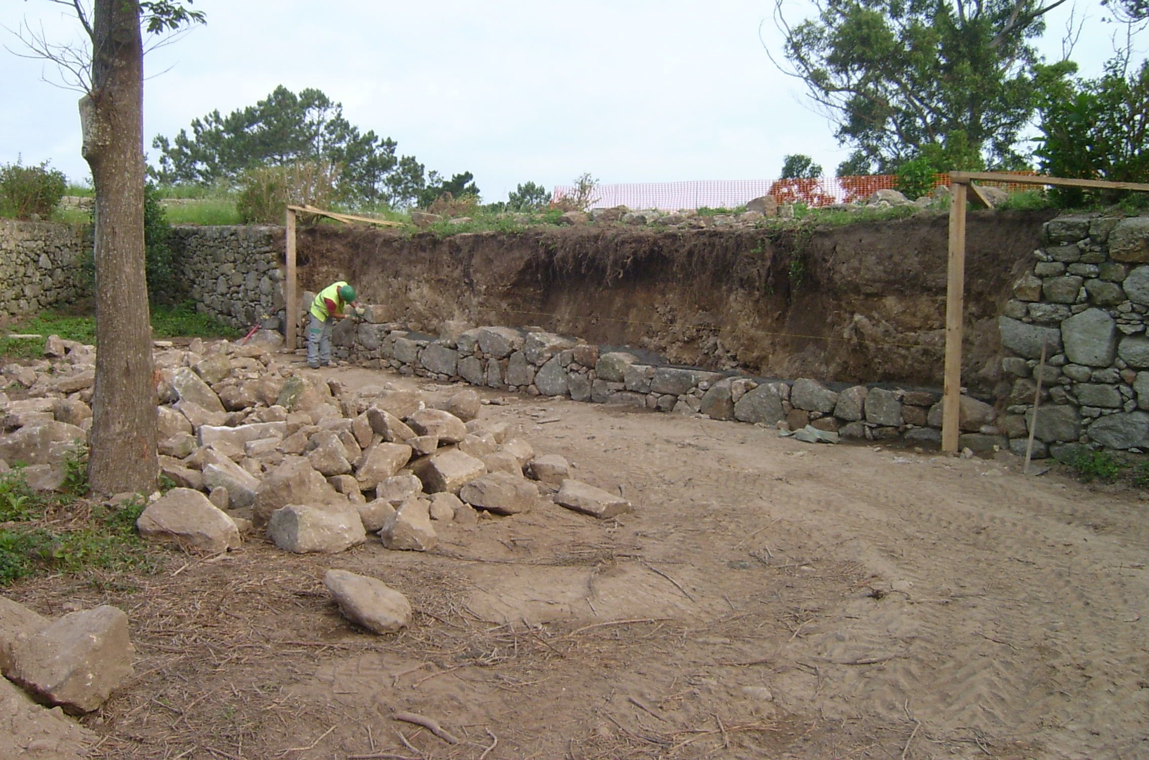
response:
[[[239,328],[261,319],[268,329],[283,325],[283,227],[178,226],[172,248],[200,311]]]

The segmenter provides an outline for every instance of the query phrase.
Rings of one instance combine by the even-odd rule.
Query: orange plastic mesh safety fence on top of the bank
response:
[[[1033,176],[1036,172],[1018,171],[1016,175]],[[949,186],[949,175],[934,175],[933,186]],[[1033,185],[1015,183],[986,183],[1016,192],[1033,189]],[[614,208],[625,205],[632,209],[660,209],[679,211],[701,208],[737,208],[763,195],[771,195],[779,203],[805,203],[807,205],[832,205],[865,201],[880,189],[896,189],[894,175],[864,175],[858,177],[819,177],[817,179],[777,180],[712,180],[686,183],[642,183],[623,185],[599,185],[592,195],[589,208]],[[558,200],[572,195],[574,187],[555,187]]]

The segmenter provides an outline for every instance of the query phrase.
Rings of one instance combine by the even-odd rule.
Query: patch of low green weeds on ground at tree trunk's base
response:
[[[65,466],[70,484],[86,488]],[[136,532],[144,506],[142,498],[110,509],[75,493],[34,491],[20,468],[0,474],[0,587],[45,573],[154,571],[157,557]]]

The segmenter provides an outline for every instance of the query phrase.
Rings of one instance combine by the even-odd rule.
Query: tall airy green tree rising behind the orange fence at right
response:
[[[812,18],[776,20],[784,70],[854,147],[840,176],[892,172],[919,155],[942,170],[1023,162],[1019,132],[1038,102],[1030,40],[1058,0],[815,1]]]

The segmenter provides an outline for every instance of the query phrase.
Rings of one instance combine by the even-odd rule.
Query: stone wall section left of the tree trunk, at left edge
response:
[[[0,315],[34,313],[90,290],[84,231],[46,222],[0,219]]]

